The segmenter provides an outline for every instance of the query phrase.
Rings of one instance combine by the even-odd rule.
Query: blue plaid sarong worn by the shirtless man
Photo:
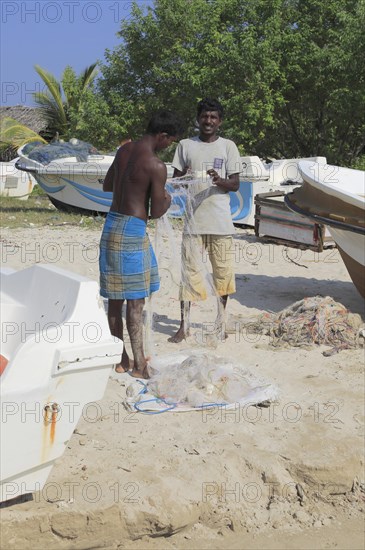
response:
[[[160,288],[156,256],[144,220],[108,213],[100,239],[99,268],[104,298],[137,300]]]

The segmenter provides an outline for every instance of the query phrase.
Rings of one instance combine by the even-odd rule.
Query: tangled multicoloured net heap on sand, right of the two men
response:
[[[324,355],[363,345],[363,327],[360,315],[349,312],[329,296],[304,298],[279,313],[265,312],[249,323],[250,332],[269,335],[275,347],[332,346]]]

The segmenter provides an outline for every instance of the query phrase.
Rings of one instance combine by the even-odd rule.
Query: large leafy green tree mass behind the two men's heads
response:
[[[365,145],[363,20],[364,0],[134,2],[81,116],[85,138],[94,123],[103,143],[136,138],[160,108],[192,134],[211,95],[242,153],[349,164]]]

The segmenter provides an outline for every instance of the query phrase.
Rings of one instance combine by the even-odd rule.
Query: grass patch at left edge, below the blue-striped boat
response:
[[[99,229],[103,226],[103,216],[88,216],[75,212],[58,210],[47,195],[36,185],[28,199],[20,200],[14,197],[1,197],[0,227],[24,228],[75,225],[88,229]]]

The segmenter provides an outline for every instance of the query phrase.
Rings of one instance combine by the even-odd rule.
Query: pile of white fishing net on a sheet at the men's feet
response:
[[[149,373],[151,378],[138,395],[133,387],[127,389],[129,404],[141,412],[267,404],[278,397],[273,384],[211,353],[193,351],[155,357]]]

